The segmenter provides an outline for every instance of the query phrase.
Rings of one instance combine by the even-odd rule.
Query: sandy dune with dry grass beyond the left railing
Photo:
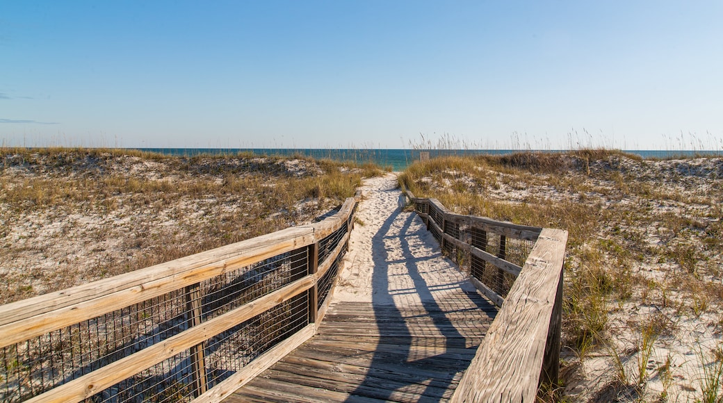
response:
[[[0,303],[312,222],[372,166],[118,149],[0,149]]]

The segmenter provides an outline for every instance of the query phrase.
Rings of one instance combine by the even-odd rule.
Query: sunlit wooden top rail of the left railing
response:
[[[343,225],[361,194],[327,219],[286,228],[119,276],[0,306],[0,347],[22,342],[133,303],[179,290],[234,268],[311,245]]]

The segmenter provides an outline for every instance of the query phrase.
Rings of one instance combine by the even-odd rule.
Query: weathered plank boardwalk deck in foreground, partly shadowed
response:
[[[315,337],[225,402],[445,402],[496,312],[461,289],[401,308],[335,303]]]

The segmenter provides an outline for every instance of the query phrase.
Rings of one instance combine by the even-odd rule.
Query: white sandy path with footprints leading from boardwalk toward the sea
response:
[[[476,292],[414,212],[403,212],[396,175],[364,181],[335,301],[410,306],[442,302],[460,287]]]

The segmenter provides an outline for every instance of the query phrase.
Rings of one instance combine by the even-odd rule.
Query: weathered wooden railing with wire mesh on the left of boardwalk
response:
[[[0,402],[223,399],[315,334],[359,196],[313,225],[0,306]]]

